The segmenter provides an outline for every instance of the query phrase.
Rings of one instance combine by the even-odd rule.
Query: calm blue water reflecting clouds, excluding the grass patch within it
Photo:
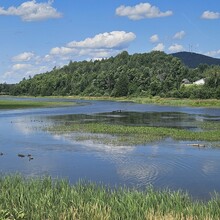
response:
[[[54,122],[105,121],[196,132],[203,122],[220,123],[219,109],[72,101],[79,105],[0,110],[1,175],[50,175],[67,178],[71,183],[88,180],[140,190],[153,185],[182,189],[196,199],[209,199],[214,191],[220,192],[220,148],[216,147],[220,143],[204,143],[205,148],[196,148],[189,141],[166,139],[139,146],[113,146],[74,140],[71,134],[55,135],[41,129]],[[33,159],[18,154],[31,154]]]

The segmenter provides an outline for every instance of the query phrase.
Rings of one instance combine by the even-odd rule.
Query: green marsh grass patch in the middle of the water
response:
[[[52,133],[71,133],[78,134],[77,140],[93,140],[106,144],[114,145],[138,145],[152,141],[158,141],[171,137],[175,140],[188,141],[220,141],[219,126],[207,124],[207,130],[193,132],[183,129],[162,128],[162,127],[144,127],[144,126],[126,126],[104,123],[65,123],[47,128]],[[84,135],[82,136],[82,133]],[[106,134],[106,136],[99,136]],[[110,135],[110,136],[109,136]]]

